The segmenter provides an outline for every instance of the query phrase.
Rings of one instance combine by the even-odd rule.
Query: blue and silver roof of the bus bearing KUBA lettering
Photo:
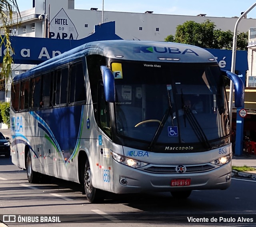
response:
[[[85,43],[64,52],[52,59],[44,61],[29,71],[14,77],[14,81],[22,80],[35,74],[48,71],[65,63],[75,61],[82,56],[102,55],[113,59],[147,61],[147,62],[217,62],[207,50],[182,43],[139,40],[107,40]]]

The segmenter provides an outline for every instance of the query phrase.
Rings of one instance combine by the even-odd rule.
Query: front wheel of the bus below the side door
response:
[[[84,191],[90,203],[102,203],[104,201],[104,191],[92,186],[92,173],[88,159],[84,167]]]

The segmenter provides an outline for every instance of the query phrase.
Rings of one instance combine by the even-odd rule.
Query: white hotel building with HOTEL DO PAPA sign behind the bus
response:
[[[102,23],[102,11],[97,8],[74,9],[75,0],[31,1],[33,1],[34,8],[21,12],[22,24],[13,29],[13,35],[81,39],[94,32],[94,25]],[[178,25],[189,20],[201,23],[208,19],[215,23],[216,29],[232,32],[237,21],[237,18],[207,17],[206,14],[164,15],[146,10],[154,9],[145,8],[145,12],[142,13],[104,11],[103,23],[115,21],[116,34],[122,39],[164,41],[168,35],[175,35]],[[41,14],[43,15],[40,16]],[[46,20],[44,14],[47,15]],[[39,16],[41,20],[38,19]],[[44,29],[44,24],[46,24],[46,29]],[[239,23],[238,31],[247,32],[255,25],[256,19],[244,18]]]

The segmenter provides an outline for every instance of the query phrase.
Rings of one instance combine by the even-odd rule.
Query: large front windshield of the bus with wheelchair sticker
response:
[[[226,93],[216,63],[122,62],[112,63],[112,71],[117,75],[119,136],[149,143],[154,139],[157,144],[207,144],[230,133]]]

